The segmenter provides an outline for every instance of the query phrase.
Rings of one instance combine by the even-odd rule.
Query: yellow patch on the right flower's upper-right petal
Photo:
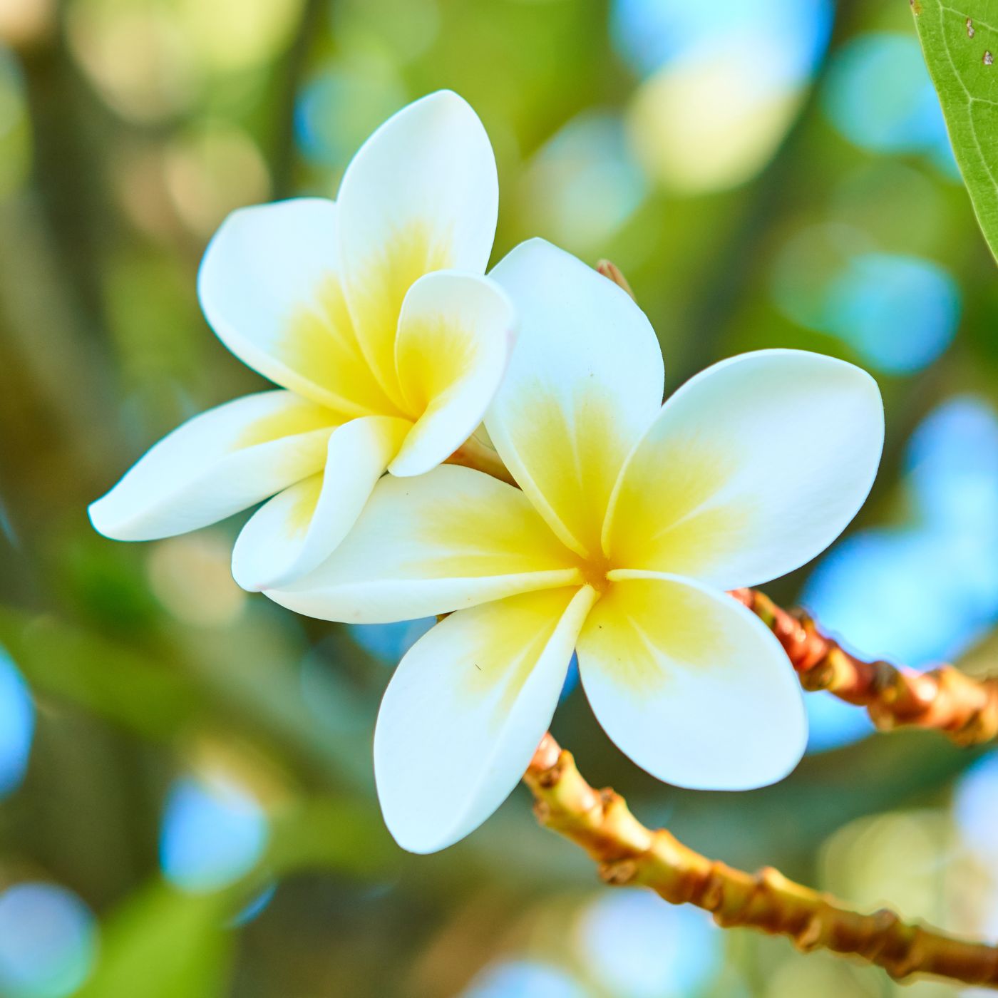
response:
[[[753,511],[724,499],[736,468],[731,451],[697,438],[642,446],[610,512],[613,564],[696,577],[737,545]]]

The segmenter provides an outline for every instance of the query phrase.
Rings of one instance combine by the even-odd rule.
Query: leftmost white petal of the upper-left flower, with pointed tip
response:
[[[152,447],[90,507],[119,541],[197,530],[318,471],[335,413],[289,391],[264,391],[209,409]]]

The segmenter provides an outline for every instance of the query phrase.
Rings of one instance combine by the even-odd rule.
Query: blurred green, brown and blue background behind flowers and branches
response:
[[[242,592],[236,522],[90,529],[153,441],[263,387],[195,294],[226,214],[334,196],[369,132],[439,87],[495,147],[494,259],[535,235],[614,259],[670,388],[763,346],[876,375],[871,500],[768,592],[865,654],[995,668],[998,281],[907,4],[0,0],[0,995],[893,995],[602,887],[522,788],[460,845],[402,853],[370,740],[426,623]],[[998,751],[807,702],[798,770],[742,794],[647,777],[571,681],[554,732],[701,851],[994,940]]]

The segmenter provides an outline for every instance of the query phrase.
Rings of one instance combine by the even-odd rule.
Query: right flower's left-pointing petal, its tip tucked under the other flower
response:
[[[581,580],[522,492],[441,465],[416,478],[386,475],[331,557],[266,595],[309,617],[383,624]]]

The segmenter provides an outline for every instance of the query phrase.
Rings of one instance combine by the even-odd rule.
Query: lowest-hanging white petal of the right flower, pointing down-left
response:
[[[593,590],[514,596],[448,617],[402,659],[374,732],[385,823],[410,852],[478,827],[547,731]]]

